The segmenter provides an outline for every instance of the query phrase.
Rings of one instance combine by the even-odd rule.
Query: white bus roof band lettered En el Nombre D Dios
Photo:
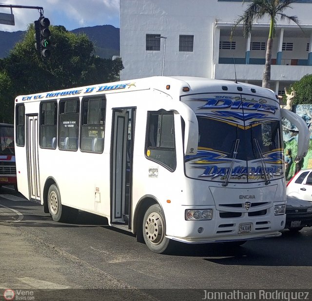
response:
[[[186,77],[186,76],[154,76],[148,78],[122,80],[109,83],[100,83],[82,87],[68,88],[57,91],[40,92],[30,95],[20,95],[16,97],[16,102],[24,101],[38,101],[49,99],[62,99],[66,97],[79,97],[79,96],[94,96],[98,94],[109,94],[118,92],[130,92],[138,90],[156,89],[171,96],[179,97],[180,95],[187,95],[193,93],[207,93],[207,92],[222,92],[222,87],[227,87],[228,93],[239,93],[237,87],[242,87],[242,93],[253,94],[257,96],[273,98],[275,93],[272,90],[264,89],[259,86],[251,85],[248,83],[230,80],[211,80],[200,77]],[[183,88],[189,88],[189,91],[183,92]],[[209,87],[209,91],[207,91]],[[254,89],[254,90],[253,90]],[[102,92],[102,93],[101,93]]]

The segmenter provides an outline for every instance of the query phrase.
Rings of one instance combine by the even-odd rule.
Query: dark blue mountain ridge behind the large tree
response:
[[[97,25],[71,30],[75,34],[85,33],[95,44],[95,53],[101,58],[111,59],[119,55],[119,28],[112,25]],[[15,43],[23,38],[24,31],[0,31],[0,58],[5,58]]]

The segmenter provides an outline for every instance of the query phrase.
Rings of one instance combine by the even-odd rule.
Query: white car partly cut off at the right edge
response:
[[[312,202],[312,169],[301,169],[287,184],[286,194]]]

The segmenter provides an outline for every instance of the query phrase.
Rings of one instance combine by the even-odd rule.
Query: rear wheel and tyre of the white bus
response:
[[[67,218],[66,207],[60,201],[59,188],[52,184],[48,192],[48,207],[53,221],[63,222]]]

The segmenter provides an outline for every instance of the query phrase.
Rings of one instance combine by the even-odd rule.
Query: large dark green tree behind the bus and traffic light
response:
[[[50,30],[49,59],[42,59],[36,51],[35,29],[30,24],[23,40],[16,43],[7,58],[0,60],[0,114],[2,108],[8,108],[6,120],[13,121],[17,95],[118,80],[123,69],[121,59],[95,56],[94,44],[85,34],[76,35],[64,26],[50,26]]]

